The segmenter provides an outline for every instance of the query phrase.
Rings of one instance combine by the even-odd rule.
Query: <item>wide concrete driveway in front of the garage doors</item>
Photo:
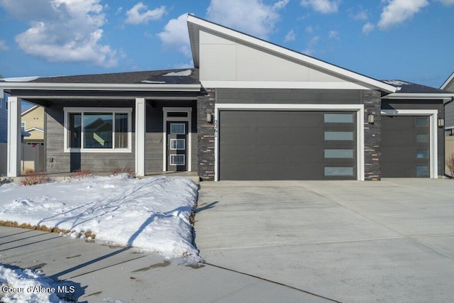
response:
[[[342,302],[454,301],[454,181],[201,182],[206,263]]]

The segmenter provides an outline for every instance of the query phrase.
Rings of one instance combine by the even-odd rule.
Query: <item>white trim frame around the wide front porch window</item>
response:
[[[64,107],[64,152],[65,153],[132,153],[132,108],[128,107]],[[82,131],[81,141],[84,138],[84,113],[108,113],[108,114],[128,114],[128,148],[115,147],[115,119],[112,127],[112,148],[84,148],[81,142],[80,148],[68,147],[68,128],[69,128],[69,114],[82,114]]]

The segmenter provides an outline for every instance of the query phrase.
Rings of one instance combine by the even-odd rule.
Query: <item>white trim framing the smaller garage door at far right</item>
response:
[[[431,126],[430,165],[431,179],[438,179],[438,110],[436,109],[382,109],[382,116],[429,116]]]

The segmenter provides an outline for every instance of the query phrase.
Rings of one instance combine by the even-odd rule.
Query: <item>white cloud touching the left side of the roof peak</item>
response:
[[[157,34],[164,48],[174,48],[187,57],[191,57],[191,45],[187,31],[187,13],[177,19],[171,19],[164,27],[164,31]]]

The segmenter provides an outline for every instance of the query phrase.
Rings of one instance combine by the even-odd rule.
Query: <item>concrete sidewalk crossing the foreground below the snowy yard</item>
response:
[[[332,302],[212,265],[21,228],[0,227],[0,260],[73,282],[77,302]]]

